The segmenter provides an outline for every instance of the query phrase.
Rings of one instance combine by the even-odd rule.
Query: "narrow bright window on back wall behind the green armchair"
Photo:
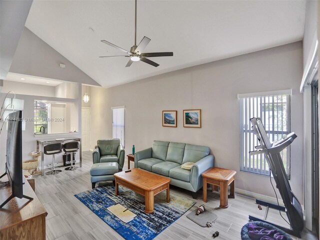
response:
[[[124,106],[112,107],[112,138],[119,138],[124,148]]]

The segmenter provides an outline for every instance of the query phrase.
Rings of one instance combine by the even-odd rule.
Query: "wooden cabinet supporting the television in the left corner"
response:
[[[4,178],[4,177],[3,177]],[[4,180],[5,179],[1,179]],[[35,195],[28,181],[23,178],[23,194],[33,200],[14,197],[0,208],[0,239],[45,240],[45,216],[47,212]],[[11,194],[11,187],[0,188],[0,202]]]

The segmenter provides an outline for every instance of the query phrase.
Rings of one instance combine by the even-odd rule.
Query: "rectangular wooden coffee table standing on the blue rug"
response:
[[[166,189],[166,201],[170,201],[170,178],[145,171],[139,168],[114,173],[115,195],[118,194],[118,184],[125,186],[145,198],[145,212],[154,210],[154,195]]]

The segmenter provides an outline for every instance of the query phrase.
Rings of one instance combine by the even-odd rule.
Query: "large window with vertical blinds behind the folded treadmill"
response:
[[[270,170],[264,154],[249,156],[249,151],[256,150],[255,146],[260,145],[251,129],[250,118],[260,117],[271,142],[285,137],[290,130],[290,94],[238,97],[240,98],[240,170],[269,175]],[[280,154],[289,176],[289,146]]]

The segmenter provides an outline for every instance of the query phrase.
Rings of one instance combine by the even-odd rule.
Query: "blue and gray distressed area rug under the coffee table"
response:
[[[194,201],[172,193],[170,193],[170,202],[166,202],[166,191],[162,191],[154,196],[154,212],[145,213],[144,196],[120,185],[117,196],[114,195],[114,191],[113,186],[102,186],[74,196],[127,240],[153,239],[195,204]],[[117,203],[137,216],[128,223],[124,223],[106,209]]]

